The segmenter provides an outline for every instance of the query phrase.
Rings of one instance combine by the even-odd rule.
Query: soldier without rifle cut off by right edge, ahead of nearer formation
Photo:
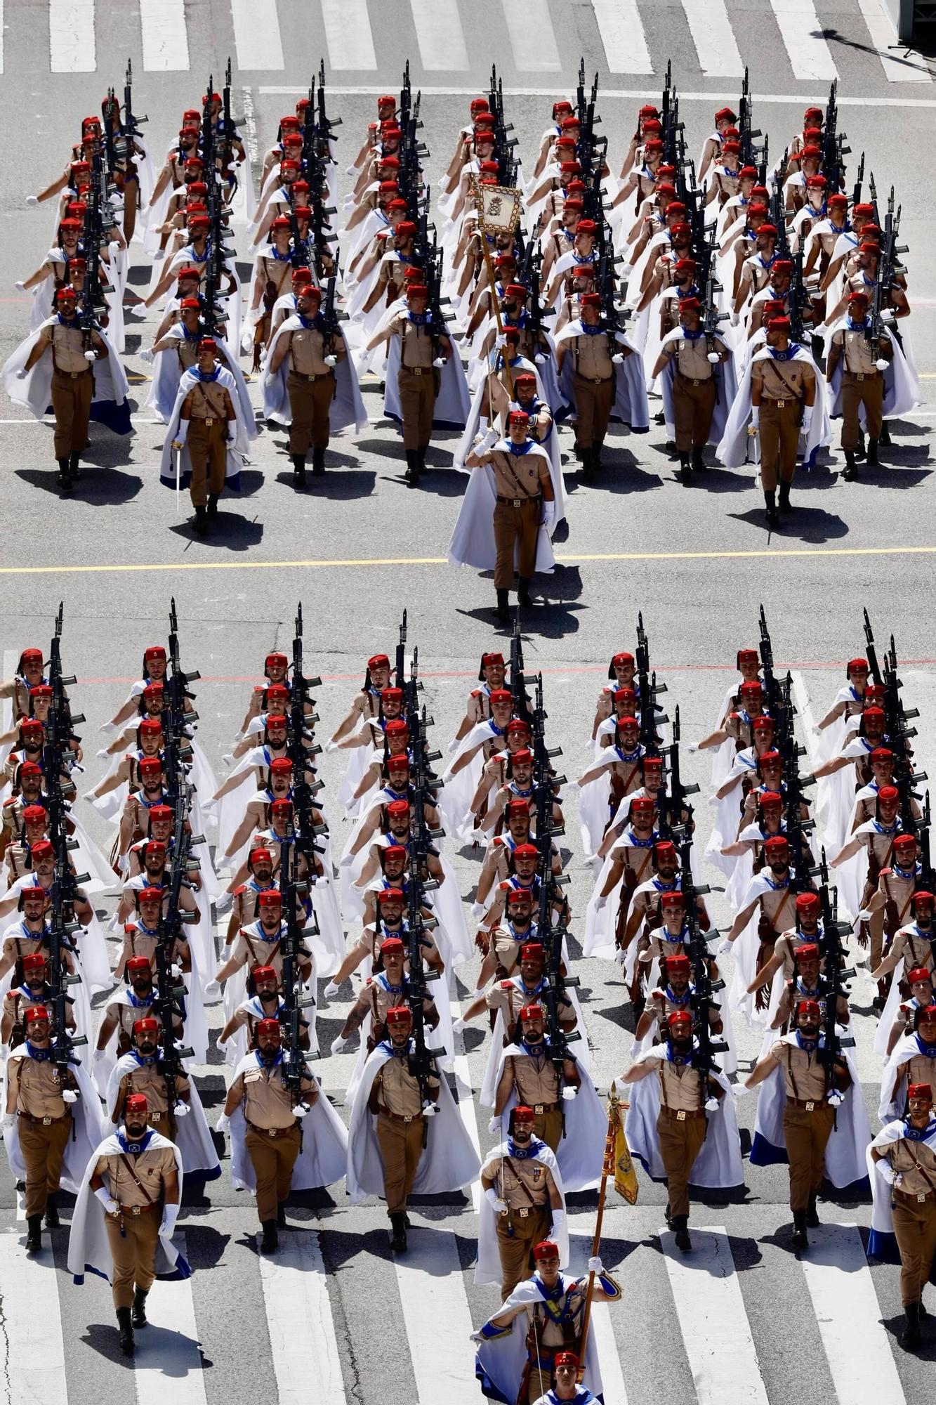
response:
[[[929,1083],[911,1083],[908,1113],[871,1142],[877,1175],[891,1187],[891,1221],[901,1253],[901,1301],[906,1326],[901,1343],[921,1342],[923,1288],[936,1253],[936,1117]],[[876,1197],[877,1198],[877,1197]]]

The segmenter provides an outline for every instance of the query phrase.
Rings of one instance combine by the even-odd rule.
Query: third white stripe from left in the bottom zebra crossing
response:
[[[275,1256],[260,1256],[260,1281],[280,1405],[305,1405],[312,1381],[322,1405],[344,1405],[318,1232],[281,1229]]]

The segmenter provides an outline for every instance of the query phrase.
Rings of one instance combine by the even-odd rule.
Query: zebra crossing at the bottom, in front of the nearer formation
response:
[[[469,1333],[496,1309],[496,1300],[489,1301],[489,1291],[479,1295],[460,1255],[457,1235],[471,1236],[472,1213],[447,1208],[444,1221],[430,1220],[431,1213],[412,1211],[406,1259],[392,1262],[389,1255],[371,1250],[367,1264],[372,1302],[379,1304],[388,1333],[391,1324],[399,1324],[395,1343],[403,1349],[412,1375],[412,1390],[395,1377],[392,1395],[384,1398],[476,1405],[481,1397]],[[361,1211],[354,1214],[357,1218]],[[242,1210],[183,1218],[177,1231],[183,1252],[193,1259],[207,1236],[218,1229],[230,1232],[235,1215],[243,1221]],[[384,1222],[378,1210],[370,1215],[371,1228]],[[329,1253],[332,1225],[340,1227],[343,1218],[336,1211],[333,1220],[326,1215],[281,1232],[274,1257],[245,1253],[238,1245],[239,1291],[256,1293],[261,1301],[250,1349],[238,1353],[243,1398],[257,1398],[250,1378],[254,1359],[271,1364],[275,1397],[267,1390],[266,1398],[278,1405],[299,1405],[311,1392],[323,1405],[377,1398],[368,1394],[364,1378],[358,1383],[358,1373],[367,1353],[379,1354],[385,1340],[374,1339],[356,1280],[346,1284],[343,1263]],[[572,1267],[578,1272],[590,1253],[593,1218],[592,1213],[572,1215]],[[659,1207],[652,1205],[614,1205],[606,1213],[609,1270],[624,1293],[620,1304],[596,1305],[593,1316],[606,1405],[672,1401],[672,1378],[669,1387],[658,1381],[656,1394],[645,1375],[648,1335],[658,1361],[676,1363],[680,1356],[687,1361],[691,1387],[680,1398],[697,1405],[774,1405],[787,1399],[783,1370],[766,1363],[773,1346],[766,1322],[788,1343],[804,1343],[808,1331],[818,1333],[821,1359],[810,1368],[817,1383],[828,1371],[835,1383],[831,1398],[842,1405],[912,1401],[854,1224],[833,1222],[812,1231],[811,1248],[800,1262],[784,1253],[788,1273],[780,1291],[770,1273],[755,1280],[739,1272],[725,1225],[693,1227],[693,1255],[687,1257],[661,1221]],[[66,1234],[55,1235],[59,1262]],[[87,1395],[76,1390],[72,1359],[89,1322],[110,1322],[110,1291],[101,1280],[94,1280],[90,1291],[73,1287],[65,1273],[55,1272],[48,1248],[27,1257],[21,1235],[21,1227],[0,1229],[0,1345],[6,1346],[0,1352],[6,1364],[0,1402],[77,1405]],[[762,1242],[766,1246],[769,1241]],[[634,1252],[616,1264],[616,1246]],[[119,1373],[115,1399],[125,1402],[135,1395],[138,1405],[163,1405],[170,1388],[173,1405],[207,1405],[212,1394],[208,1367],[232,1350],[228,1301],[211,1269],[184,1281],[156,1283],[148,1302],[152,1331],[139,1333],[138,1354],[132,1367]],[[645,1311],[649,1301],[651,1318]],[[132,1395],[122,1384],[128,1371]],[[96,1405],[111,1405],[105,1375]]]

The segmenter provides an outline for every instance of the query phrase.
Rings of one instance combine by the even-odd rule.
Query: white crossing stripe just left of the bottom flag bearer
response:
[[[413,1225],[409,1253],[394,1260],[416,1399],[478,1405],[472,1325],[458,1245],[450,1229]]]

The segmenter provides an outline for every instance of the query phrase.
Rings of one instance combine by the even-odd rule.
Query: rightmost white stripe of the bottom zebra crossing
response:
[[[901,1378],[856,1225],[810,1229],[800,1262],[838,1398],[899,1405]]]

